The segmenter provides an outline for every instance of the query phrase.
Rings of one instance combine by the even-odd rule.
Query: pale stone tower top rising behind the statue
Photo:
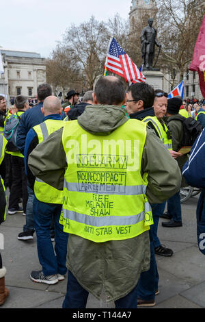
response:
[[[130,26],[135,27],[136,23],[148,21],[148,18],[155,18],[156,3],[154,0],[132,0],[130,16]]]

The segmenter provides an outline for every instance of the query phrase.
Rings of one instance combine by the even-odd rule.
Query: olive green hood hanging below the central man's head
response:
[[[108,135],[128,121],[126,110],[121,106],[91,105],[78,118],[85,131],[96,135]]]

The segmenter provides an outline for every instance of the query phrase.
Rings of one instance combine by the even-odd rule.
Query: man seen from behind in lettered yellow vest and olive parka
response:
[[[33,175],[64,187],[70,234],[63,308],[85,308],[88,294],[100,299],[102,288],[116,308],[137,307],[137,281],[150,264],[150,202],[163,202],[180,186],[176,162],[145,123],[128,119],[125,101],[121,80],[101,77],[94,106],[29,156]]]

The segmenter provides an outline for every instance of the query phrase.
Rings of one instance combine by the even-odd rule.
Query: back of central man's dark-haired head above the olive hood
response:
[[[126,101],[124,84],[115,76],[100,77],[93,93],[94,104],[122,106]]]

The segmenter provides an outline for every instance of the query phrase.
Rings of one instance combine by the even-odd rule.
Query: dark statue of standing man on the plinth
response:
[[[156,41],[156,29],[152,27],[153,19],[148,19],[148,26],[143,28],[141,39],[141,53],[143,58],[143,64],[145,69],[152,70],[152,64],[154,62],[155,45],[161,48],[161,45]]]

